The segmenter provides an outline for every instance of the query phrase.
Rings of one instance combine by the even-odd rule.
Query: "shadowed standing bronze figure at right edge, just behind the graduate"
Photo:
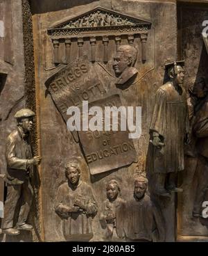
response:
[[[199,154],[202,152],[202,148],[206,148],[206,143],[204,144],[205,147],[202,147],[201,142],[206,141],[206,136],[198,138],[198,131],[202,127],[205,129],[207,125],[205,125],[206,121],[206,112],[201,112],[204,105],[207,104],[208,99],[208,85],[205,81],[205,77],[199,76],[197,78],[194,77],[191,79],[192,83],[189,86],[189,97],[187,99],[187,105],[189,109],[189,145],[185,147],[185,169],[182,175],[183,177],[183,202],[184,202],[184,209],[186,209],[186,218],[192,218],[192,214],[195,217],[200,216],[200,207],[202,205],[203,200],[203,192],[201,193],[201,186],[204,189],[207,184],[207,168],[201,164],[203,163],[203,159],[205,158],[203,154]],[[204,115],[205,114],[205,115]],[[202,123],[199,122],[199,116],[201,115]],[[196,136],[197,133],[197,136]],[[199,145],[199,146],[198,146]],[[196,189],[193,191],[193,184],[197,184]],[[204,185],[203,185],[204,184]],[[194,186],[195,187],[195,186]],[[202,189],[202,190],[203,190]],[[200,195],[200,196],[199,196]],[[200,198],[201,197],[201,198]],[[194,201],[196,198],[196,202]],[[195,211],[193,210],[193,205],[196,205]]]

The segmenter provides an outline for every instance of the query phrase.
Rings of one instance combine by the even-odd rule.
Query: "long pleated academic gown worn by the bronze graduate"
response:
[[[184,170],[184,138],[189,132],[187,97],[184,88],[168,82],[155,95],[150,131],[157,131],[163,147],[153,147],[153,171],[174,173]]]

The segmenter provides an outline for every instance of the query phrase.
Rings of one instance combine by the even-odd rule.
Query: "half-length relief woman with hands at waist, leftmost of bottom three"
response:
[[[98,211],[94,192],[81,180],[80,172],[78,160],[66,164],[67,182],[59,186],[55,198],[55,212],[63,220],[63,233],[67,241],[92,239],[92,217]]]

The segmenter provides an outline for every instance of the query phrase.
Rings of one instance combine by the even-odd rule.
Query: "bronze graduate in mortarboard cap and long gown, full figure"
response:
[[[170,192],[182,192],[176,185],[177,172],[184,170],[184,141],[188,141],[189,133],[183,66],[184,61],[166,65],[169,81],[156,92],[150,124],[155,193],[163,196],[169,196]]]

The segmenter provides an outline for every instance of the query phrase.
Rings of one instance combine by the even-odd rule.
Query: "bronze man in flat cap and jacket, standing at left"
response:
[[[40,164],[41,157],[33,157],[29,134],[33,129],[35,113],[30,109],[21,109],[15,114],[17,128],[6,141],[7,161],[7,196],[4,205],[2,232],[10,235],[19,234],[19,230],[31,230],[32,225],[26,223],[33,199],[30,176],[33,166]],[[17,202],[21,199],[17,228],[13,226],[13,218]]]

